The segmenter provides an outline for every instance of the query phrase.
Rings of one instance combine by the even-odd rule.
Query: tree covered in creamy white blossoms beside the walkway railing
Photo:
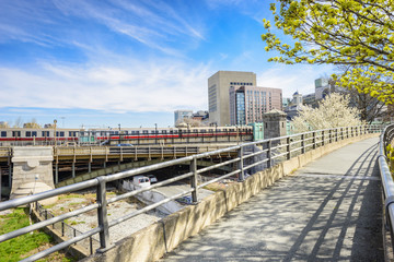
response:
[[[300,115],[291,122],[292,128],[296,133],[301,133],[311,130],[362,124],[359,120],[359,110],[348,105],[349,96],[337,93],[331,94],[318,103],[317,108],[303,106]]]

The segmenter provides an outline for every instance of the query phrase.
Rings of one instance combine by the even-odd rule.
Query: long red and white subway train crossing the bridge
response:
[[[253,128],[189,127],[189,128],[1,128],[0,146],[50,144],[159,144],[212,143],[253,141]]]

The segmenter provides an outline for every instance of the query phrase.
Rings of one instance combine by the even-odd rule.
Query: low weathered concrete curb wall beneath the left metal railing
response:
[[[366,134],[338,141],[257,172],[243,182],[205,198],[197,205],[189,205],[126,237],[105,253],[96,253],[83,261],[155,261],[278,179],[344,145],[378,135]]]

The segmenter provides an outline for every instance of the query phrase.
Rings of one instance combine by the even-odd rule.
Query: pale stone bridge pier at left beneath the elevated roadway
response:
[[[18,199],[55,188],[51,146],[13,147],[13,178],[10,199]],[[49,204],[49,199],[43,204]]]

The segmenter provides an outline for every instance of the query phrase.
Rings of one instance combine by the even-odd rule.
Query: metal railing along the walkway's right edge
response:
[[[390,124],[385,127],[380,136],[378,162],[383,184],[386,227],[390,229],[392,236],[394,233],[394,181],[389,167],[386,148],[387,145],[393,143],[393,140],[394,124]]]

